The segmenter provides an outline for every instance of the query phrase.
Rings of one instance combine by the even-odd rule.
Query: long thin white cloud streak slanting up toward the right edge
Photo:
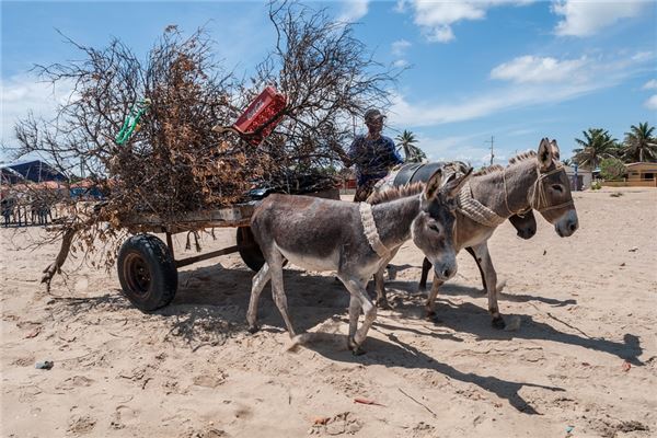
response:
[[[584,66],[579,70],[573,68],[572,72],[576,73],[583,73],[586,69],[595,72],[595,74],[583,73],[577,80],[516,80],[491,91],[464,96],[457,102],[438,104],[435,101],[408,102],[404,95],[396,94],[392,97],[393,105],[390,112],[394,115],[391,116],[391,120],[400,126],[435,126],[471,120],[515,108],[564,102],[618,85],[627,78],[644,72],[646,65],[650,65],[654,60],[654,57],[643,62],[635,61],[632,57],[600,58],[587,61],[586,68]],[[564,61],[556,61],[557,65],[561,62]],[[509,79],[516,79],[516,77],[511,77],[509,73]]]

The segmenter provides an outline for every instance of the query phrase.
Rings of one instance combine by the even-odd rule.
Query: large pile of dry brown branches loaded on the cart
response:
[[[102,49],[69,41],[82,60],[37,67],[73,92],[55,120],[30,116],[16,125],[19,155],[38,152],[68,174],[81,165],[106,197],[91,215],[71,205],[61,233],[85,233],[79,241],[89,250],[136,211],[175,220],[238,203],[254,187],[299,193],[334,184],[336,150],[368,107],[387,103],[393,72],[367,55],[349,24],[324,11],[273,2],[269,20],[276,45],[247,80],[216,61],[204,31],[184,37],[173,25],[143,60],[118,39]],[[212,130],[233,124],[266,85],[287,104],[262,143]],[[138,129],[119,145],[117,132],[140,103],[147,110]],[[111,231],[97,227],[107,221]]]

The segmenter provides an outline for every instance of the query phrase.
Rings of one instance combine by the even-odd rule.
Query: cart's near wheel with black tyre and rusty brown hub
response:
[[[177,270],[169,247],[150,234],[130,237],[120,247],[118,280],[125,296],[142,311],[155,310],[173,300]]]

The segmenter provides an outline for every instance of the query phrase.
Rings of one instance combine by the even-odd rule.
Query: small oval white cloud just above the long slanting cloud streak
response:
[[[586,57],[558,60],[551,57],[521,56],[504,62],[491,71],[491,78],[516,83],[581,81],[588,76]]]

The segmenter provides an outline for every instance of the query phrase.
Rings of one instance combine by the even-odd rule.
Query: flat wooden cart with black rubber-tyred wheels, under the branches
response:
[[[339,199],[337,188],[306,194]],[[249,223],[260,201],[238,204],[216,210],[194,211],[175,220],[163,221],[157,215],[136,215],[126,228],[135,234],[128,238],[118,252],[118,279],[125,296],[142,311],[169,304],[177,290],[177,268],[220,255],[240,253],[242,261],[253,270],[265,263]],[[207,228],[237,228],[235,244],[222,250],[187,258],[175,258],[172,235]],[[163,233],[163,242],[152,233]]]

